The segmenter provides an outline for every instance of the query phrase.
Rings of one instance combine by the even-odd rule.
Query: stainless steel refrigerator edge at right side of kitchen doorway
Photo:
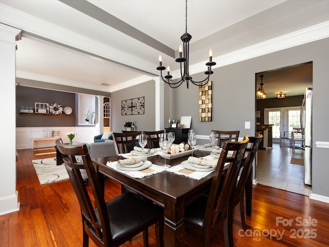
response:
[[[300,125],[304,135],[304,183],[312,185],[312,98],[313,88],[306,87],[300,113]]]

